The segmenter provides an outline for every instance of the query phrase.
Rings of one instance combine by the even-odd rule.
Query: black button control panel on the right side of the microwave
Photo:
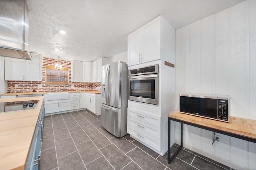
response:
[[[218,99],[218,119],[228,121],[228,100]]]

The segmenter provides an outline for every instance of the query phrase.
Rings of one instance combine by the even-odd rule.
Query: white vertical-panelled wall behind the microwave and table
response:
[[[256,1],[247,0],[176,30],[176,109],[179,94],[230,96],[230,116],[256,119]],[[175,124],[175,140],[180,126]],[[256,143],[184,125],[184,144],[256,169]]]

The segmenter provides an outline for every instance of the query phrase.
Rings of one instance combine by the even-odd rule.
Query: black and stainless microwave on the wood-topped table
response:
[[[229,122],[229,96],[180,94],[180,112]]]

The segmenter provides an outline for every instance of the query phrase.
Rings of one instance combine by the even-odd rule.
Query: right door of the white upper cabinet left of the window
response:
[[[25,80],[42,81],[42,57],[33,55],[32,58],[32,61],[25,61]]]

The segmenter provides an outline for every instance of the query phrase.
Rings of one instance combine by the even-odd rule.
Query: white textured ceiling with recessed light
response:
[[[70,61],[109,58],[127,51],[127,35],[159,15],[177,29],[242,1],[27,0],[28,49]]]

